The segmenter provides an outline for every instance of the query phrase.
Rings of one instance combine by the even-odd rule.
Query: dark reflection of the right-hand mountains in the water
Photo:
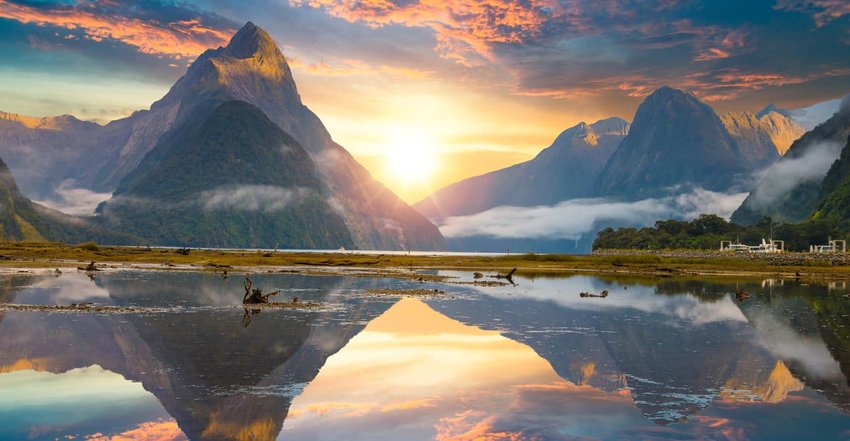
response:
[[[627,386],[644,415],[666,425],[685,421],[717,399],[775,402],[801,390],[801,381],[846,409],[847,375],[835,368],[838,354],[850,350],[827,343],[840,338],[832,331],[835,327],[824,330],[822,323],[830,320],[815,311],[833,311],[835,319],[848,302],[833,294],[828,297],[831,309],[815,306],[820,303],[806,299],[823,302],[818,290],[826,288],[811,288],[792,282],[772,287],[761,282],[676,280],[624,285],[575,276],[524,279],[520,296],[507,287],[487,289],[480,298],[434,307],[527,344],[568,381],[608,391]],[[738,305],[733,295],[738,289],[753,298]],[[578,295],[602,290],[611,294],[605,299]],[[796,310],[777,307],[799,322],[786,327],[781,338],[799,342],[809,353],[795,358],[768,344],[769,335],[764,334],[776,331],[765,329],[760,325],[764,320],[749,313],[762,307],[761,293],[768,290],[785,290],[799,302]],[[823,339],[815,337],[818,329],[826,333]],[[800,360],[832,367],[818,380],[806,373]]]

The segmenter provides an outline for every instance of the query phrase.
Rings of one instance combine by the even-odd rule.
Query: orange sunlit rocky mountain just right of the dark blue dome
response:
[[[755,115],[728,112],[721,115],[720,120],[742,151],[750,154],[747,160],[759,167],[779,159],[806,133],[803,126],[779,111],[762,110]]]

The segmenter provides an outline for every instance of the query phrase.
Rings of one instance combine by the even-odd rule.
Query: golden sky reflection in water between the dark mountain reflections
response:
[[[319,431],[347,439],[580,438],[583,430],[649,424],[628,391],[564,381],[528,346],[412,298],[329,358],[290,415],[284,438]]]

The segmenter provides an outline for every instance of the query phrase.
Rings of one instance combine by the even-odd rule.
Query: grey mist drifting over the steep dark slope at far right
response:
[[[785,156],[764,171],[764,177],[750,195],[755,208],[766,208],[799,184],[823,179],[841,154],[841,144],[819,142],[797,158]]]

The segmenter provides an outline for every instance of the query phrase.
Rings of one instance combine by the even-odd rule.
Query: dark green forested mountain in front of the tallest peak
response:
[[[260,109],[228,101],[163,136],[98,212],[162,245],[351,247],[329,197],[298,141]]]

